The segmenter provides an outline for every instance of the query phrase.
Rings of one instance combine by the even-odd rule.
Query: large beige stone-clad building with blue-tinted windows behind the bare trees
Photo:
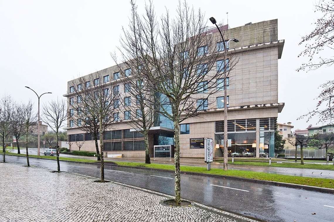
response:
[[[278,40],[277,22],[275,19],[232,29],[229,29],[228,25],[222,27],[225,39],[239,40],[237,43],[230,42],[227,50],[228,56],[233,55],[239,59],[230,70],[226,87],[229,155],[261,157],[268,153],[269,157],[275,156],[277,116],[284,107],[284,103],[278,102],[278,59],[282,55],[284,40]],[[219,35],[216,28],[206,27],[205,31]],[[217,42],[218,44],[220,43]],[[119,67],[112,66],[87,76],[98,75],[97,81],[108,80],[111,89],[118,87],[118,90],[126,91],[126,86],[119,80]],[[123,72],[126,73],[128,69],[129,67],[124,66]],[[64,95],[69,104],[69,113],[72,112],[70,104],[76,99],[72,87],[77,86],[73,85],[73,82],[75,81],[71,80],[67,83],[68,92]],[[209,101],[201,104],[205,112],[180,124],[181,157],[204,158],[204,138],[214,139],[214,157],[222,157],[223,96],[224,90],[220,88],[208,98]],[[121,101],[123,99],[121,98]],[[144,157],[143,136],[129,126],[128,122],[131,120],[126,112],[118,112],[115,129],[105,134],[104,150],[108,155]],[[173,123],[162,116],[157,118],[157,124],[150,130],[151,157],[172,156],[172,147],[168,145],[173,145]],[[79,130],[73,120],[68,120],[67,124],[69,141],[84,141],[81,150],[95,150],[95,143],[88,133]],[[160,147],[154,148],[158,145]]]

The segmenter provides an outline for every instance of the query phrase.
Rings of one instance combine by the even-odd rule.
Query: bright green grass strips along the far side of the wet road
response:
[[[2,153],[2,150],[0,151]],[[6,152],[9,155],[18,155],[11,152]],[[20,156],[25,156],[25,154],[20,154]],[[35,155],[29,155],[29,157],[36,157]],[[56,159],[55,156],[40,156],[39,158],[47,158],[47,159]],[[76,158],[67,158],[67,157],[59,157],[60,160],[66,161],[75,161],[75,162],[86,162],[86,163],[96,163],[96,160],[87,160],[87,159],[76,159]],[[108,161],[106,161],[108,162]],[[145,164],[138,162],[121,162],[114,161],[117,165],[121,166],[131,166],[131,167],[147,167],[147,168],[155,168],[155,169],[167,169],[174,170],[174,165],[172,164]],[[232,163],[229,163],[232,164]],[[242,165],[250,165],[250,166],[269,166],[269,163],[266,162],[242,162],[242,161],[234,161],[234,164],[242,164]],[[283,165],[284,164],[284,165]],[[296,163],[282,163],[277,164],[272,163],[272,166],[276,167],[276,165],[281,167],[292,167],[296,168],[311,168],[317,167],[313,165],[318,164],[305,164],[300,165]],[[334,169],[333,165],[319,165],[318,167],[325,167],[320,169]],[[324,187],[334,189],[334,180],[326,179],[326,178],[315,178],[315,177],[302,177],[302,176],[290,176],[290,175],[281,175],[274,173],[265,173],[265,172],[253,172],[253,171],[245,171],[245,170],[223,170],[217,168],[211,168],[211,170],[207,171],[206,167],[189,167],[189,166],[181,166],[181,171],[183,172],[198,172],[198,173],[208,173],[208,174],[216,174],[222,176],[234,176],[241,178],[250,178],[250,179],[258,179],[258,180],[267,180],[267,181],[275,181],[275,182],[284,182],[284,183],[292,183],[292,184],[300,184],[300,185],[308,185],[308,186],[316,186],[316,187]]]

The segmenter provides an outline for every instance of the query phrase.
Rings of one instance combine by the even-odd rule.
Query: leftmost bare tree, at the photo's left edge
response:
[[[11,134],[11,119],[14,101],[11,96],[4,95],[0,103],[0,135],[2,137],[3,162],[6,162],[5,139]]]

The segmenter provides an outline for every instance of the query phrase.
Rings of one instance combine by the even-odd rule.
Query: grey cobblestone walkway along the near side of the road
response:
[[[169,207],[173,197],[116,182],[39,167],[0,163],[0,221],[256,222],[198,203]]]

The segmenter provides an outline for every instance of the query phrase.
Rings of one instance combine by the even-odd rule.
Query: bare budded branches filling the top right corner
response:
[[[323,65],[330,66],[334,57],[324,58],[322,51],[333,50],[334,43],[334,0],[320,0],[316,10],[323,15],[317,19],[316,28],[302,38],[299,45],[305,45],[305,50],[299,56],[307,56],[309,62],[303,63],[297,70],[313,70]],[[319,57],[318,57],[319,56]]]

